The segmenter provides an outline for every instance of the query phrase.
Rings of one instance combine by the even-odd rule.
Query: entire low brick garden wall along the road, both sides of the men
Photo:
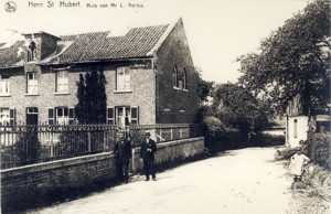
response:
[[[203,138],[159,143],[157,164],[171,165],[202,156],[203,146]],[[136,172],[141,168],[139,152],[137,148],[132,160]],[[109,152],[2,170],[1,207],[6,212],[28,204],[50,203],[54,195],[114,182],[115,178],[115,157]]]

